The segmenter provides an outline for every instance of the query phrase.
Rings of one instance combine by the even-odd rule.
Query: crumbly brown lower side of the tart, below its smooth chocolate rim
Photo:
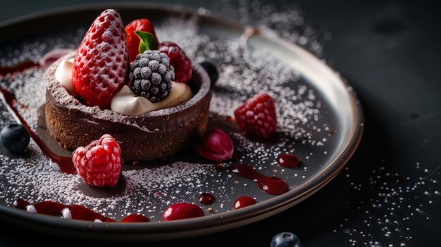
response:
[[[209,113],[201,113],[197,118],[179,129],[166,133],[144,134],[142,140],[125,137],[119,131],[113,132],[99,126],[91,125],[87,120],[66,118],[46,100],[46,125],[52,137],[57,139],[63,148],[75,149],[87,146],[104,134],[118,141],[123,160],[154,160],[172,156],[180,151],[192,137],[201,136],[206,131]]]

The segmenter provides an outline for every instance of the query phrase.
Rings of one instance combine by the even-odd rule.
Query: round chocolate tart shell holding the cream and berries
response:
[[[172,156],[193,137],[206,131],[209,120],[211,82],[197,63],[189,85],[190,101],[180,106],[155,110],[138,116],[123,115],[98,106],[85,106],[55,79],[55,70],[63,59],[46,70],[46,125],[49,133],[63,148],[87,146],[103,134],[118,141],[123,160],[153,160]],[[174,82],[176,83],[176,82]]]

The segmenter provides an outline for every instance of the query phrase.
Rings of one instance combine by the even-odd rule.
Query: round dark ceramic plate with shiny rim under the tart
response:
[[[248,163],[262,174],[285,179],[289,185],[289,189],[285,194],[273,196],[261,191],[256,183],[251,180],[238,177],[229,172],[206,170],[206,172],[201,172],[199,176],[194,174],[189,175],[190,177],[185,179],[184,186],[179,182],[168,184],[165,189],[168,191],[168,198],[157,200],[155,196],[158,195],[157,192],[161,191],[161,189],[138,188],[137,194],[139,194],[139,196],[130,197],[129,195],[128,198],[130,198],[133,205],[127,206],[125,210],[122,210],[118,205],[110,208],[108,205],[103,205],[103,207],[107,207],[107,210],[101,213],[105,213],[119,220],[123,215],[128,213],[128,211],[137,210],[137,204],[141,205],[147,202],[148,206],[139,206],[142,209],[139,210],[139,213],[144,213],[151,217],[152,222],[149,223],[91,223],[27,213],[24,210],[11,207],[11,201],[15,199],[11,198],[11,196],[14,197],[17,195],[7,194],[6,192],[1,195],[0,199],[0,217],[3,220],[14,221],[23,226],[36,227],[39,230],[51,231],[54,232],[54,234],[76,234],[80,237],[92,238],[106,235],[106,237],[114,239],[170,239],[220,232],[225,229],[240,227],[245,224],[250,224],[251,222],[262,220],[303,201],[330,182],[330,180],[342,170],[344,164],[347,163],[347,160],[352,156],[352,153],[354,153],[361,138],[363,117],[354,92],[337,72],[308,51],[280,39],[280,37],[275,34],[260,32],[250,37],[247,42],[244,42],[242,36],[244,27],[242,25],[210,15],[205,11],[201,14],[201,11],[197,13],[185,8],[173,8],[170,6],[151,4],[118,4],[116,6],[104,6],[100,4],[63,8],[56,11],[29,15],[0,24],[0,32],[2,33],[0,37],[0,56],[2,60],[0,62],[17,63],[20,59],[25,60],[23,56],[18,59],[14,58],[14,56],[18,56],[19,54],[15,54],[11,51],[21,49],[20,46],[23,46],[23,44],[32,43],[34,40],[42,40],[44,37],[53,37],[52,40],[56,42],[49,42],[43,49],[40,49],[41,52],[59,47],[57,42],[65,44],[62,45],[64,46],[63,48],[66,48],[66,46],[68,46],[66,44],[69,42],[72,44],[70,47],[77,45],[90,23],[106,8],[117,8],[123,20],[125,20],[125,23],[127,23],[128,20],[143,17],[148,17],[155,25],[159,26],[164,22],[168,22],[169,26],[173,25],[173,22],[170,24],[170,21],[168,21],[170,18],[175,18],[173,20],[174,23],[176,23],[176,20],[182,20],[184,23],[186,20],[192,20],[197,26],[194,27],[193,25],[192,28],[197,30],[199,37],[207,37],[207,40],[210,42],[198,46],[195,50],[194,47],[185,43],[183,40],[178,40],[177,42],[184,44],[184,48],[189,50],[188,53],[192,54],[192,56],[197,56],[198,61],[201,60],[199,58],[209,57],[218,63],[221,68],[221,77],[216,87],[213,88],[214,103],[212,102],[213,107],[211,109],[223,109],[221,111],[225,112],[222,112],[222,115],[232,114],[231,109],[228,110],[225,109],[228,108],[227,106],[222,106],[222,99],[226,99],[225,105],[227,105],[229,95],[231,95],[231,98],[237,98],[243,101],[243,99],[247,99],[251,96],[253,92],[251,90],[239,94],[234,84],[231,83],[243,84],[247,82],[247,76],[255,75],[259,77],[254,77],[252,80],[262,80],[263,84],[272,79],[265,77],[268,73],[259,74],[261,71],[268,69],[268,65],[266,65],[267,67],[259,67],[261,63],[256,61],[254,64],[253,59],[256,58],[245,53],[243,55],[244,59],[251,59],[251,63],[243,65],[243,68],[247,68],[246,71],[248,72],[245,70],[244,72],[242,69],[234,71],[236,67],[231,64],[226,64],[226,58],[222,60],[216,54],[209,55],[208,53],[204,53],[204,51],[211,49],[207,48],[211,44],[214,46],[222,46],[225,44],[225,39],[237,41],[237,43],[232,42],[231,44],[247,46],[247,49],[253,53],[254,51],[256,51],[255,53],[259,51],[263,54],[268,54],[266,57],[272,59],[272,62],[268,63],[269,70],[271,70],[271,66],[274,65],[278,69],[283,70],[284,75],[292,76],[292,78],[283,77],[284,79],[280,79],[286,80],[285,84],[277,85],[278,88],[285,88],[282,91],[272,91],[277,87],[272,87],[271,84],[268,84],[268,92],[273,94],[273,96],[277,96],[276,105],[279,103],[278,107],[285,108],[285,111],[280,113],[280,115],[282,115],[280,116],[280,118],[282,118],[282,120],[280,120],[282,122],[280,129],[278,133],[273,135],[270,139],[262,141],[242,137],[234,122],[226,121],[216,113],[213,113],[213,117],[210,120],[210,126],[225,129],[225,131],[232,135],[235,141],[235,157],[226,165]],[[78,16],[81,16],[81,18],[78,18]],[[81,29],[80,27],[83,28]],[[80,31],[78,31],[79,28]],[[187,32],[188,30],[184,28],[181,31]],[[161,30],[159,30],[159,33],[161,34]],[[167,36],[167,34],[163,35]],[[173,34],[170,35],[173,37]],[[216,40],[223,40],[224,43],[215,42]],[[243,50],[244,49],[240,48],[237,49],[237,51]],[[202,53],[198,53],[198,51]],[[228,53],[226,54],[228,55]],[[240,60],[242,56],[236,58]],[[258,59],[260,58],[258,57]],[[240,61],[234,61],[234,57],[230,63],[238,63],[237,66],[239,66],[239,68],[242,66]],[[252,70],[259,71],[253,74],[250,72]],[[277,74],[277,72],[271,73]],[[237,77],[237,82],[227,82],[231,78],[235,78],[236,74],[240,75]],[[225,80],[225,78],[228,80]],[[251,85],[249,87],[253,86]],[[290,90],[292,91],[292,95],[286,96],[286,91]],[[283,97],[287,99],[284,103],[286,106],[282,106],[281,101],[278,101],[279,98],[281,99]],[[296,109],[287,108],[287,106],[291,105],[293,108],[298,108],[298,111],[296,111]],[[228,106],[234,106],[234,102]],[[38,107],[41,108],[42,106]],[[308,109],[315,111],[309,113]],[[1,106],[0,110],[6,111],[6,108]],[[286,114],[283,115],[284,113]],[[297,113],[306,114],[307,116]],[[40,112],[39,120],[42,120],[42,114],[43,113]],[[294,125],[296,127],[290,130],[290,127]],[[44,129],[44,121],[38,123],[36,130],[44,141],[54,148],[56,152],[68,153],[62,148],[57,147],[55,141],[49,137]],[[297,156],[302,159],[302,166],[292,169],[277,165],[275,160],[280,153],[284,152],[297,154]],[[123,177],[125,177],[125,180],[130,181],[130,174],[135,174],[139,170],[149,171],[150,169],[150,171],[154,171],[154,169],[158,167],[162,167],[162,170],[170,172],[170,170],[167,169],[173,166],[172,164],[175,163],[176,160],[185,161],[186,163],[196,163],[201,169],[206,169],[206,167],[210,165],[207,160],[197,157],[192,151],[192,148],[188,148],[188,151],[185,153],[180,153],[170,160],[155,161],[136,166],[125,165],[123,170],[128,173],[123,173]],[[3,147],[1,147],[0,154],[3,156],[11,156]],[[263,156],[263,154],[266,155]],[[34,152],[29,155],[30,156],[22,158],[30,157],[32,159],[32,156],[38,154]],[[15,156],[15,158],[20,159],[20,156]],[[7,166],[8,162],[3,159],[1,165]],[[185,170],[185,168],[182,169]],[[156,172],[157,171],[158,170],[156,170]],[[163,175],[159,174],[158,176],[158,179],[161,179]],[[175,178],[179,176],[181,175],[175,176]],[[78,185],[73,190],[77,190],[80,194],[85,194],[87,198],[118,197],[120,193],[126,194],[127,196],[127,194],[130,194],[130,189],[133,189],[125,185],[124,181],[121,182],[123,185],[120,186],[120,191],[94,189],[85,186],[79,179],[75,181],[78,182]],[[3,188],[7,188],[8,185],[11,185],[11,181],[6,181],[5,176],[1,177],[0,183]],[[167,181],[163,181],[163,183],[167,183]],[[32,189],[30,191],[32,191]],[[199,193],[204,191],[210,191],[216,197],[216,202],[213,203],[213,205],[204,206],[199,204]],[[244,195],[256,198],[258,203],[240,210],[232,210],[232,202],[239,196]],[[24,195],[20,194],[20,196],[25,198],[28,196],[30,200],[32,200],[32,198],[35,199],[34,193],[32,192]],[[167,197],[167,195],[163,196]],[[60,196],[55,196],[55,198],[58,197]],[[45,198],[45,196],[42,196],[39,197],[39,199],[50,200],[52,197],[48,196]],[[138,199],[139,201],[137,201]],[[159,219],[161,219],[161,213],[166,206],[179,201],[187,201],[199,205],[204,209],[206,216],[174,222],[161,222]],[[68,201],[68,203],[76,202]],[[108,203],[108,201],[106,201],[106,203]],[[86,202],[85,204],[87,205],[88,203]],[[100,209],[97,205],[92,206],[95,207],[95,210]],[[211,210],[208,210],[209,208],[211,208]]]

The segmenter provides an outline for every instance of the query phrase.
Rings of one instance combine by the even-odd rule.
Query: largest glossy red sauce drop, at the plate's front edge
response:
[[[162,220],[182,220],[204,216],[204,211],[191,203],[175,203],[170,205],[162,214]]]

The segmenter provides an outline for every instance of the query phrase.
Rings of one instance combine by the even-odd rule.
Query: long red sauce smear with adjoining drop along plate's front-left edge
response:
[[[42,201],[32,204],[23,199],[18,199],[14,202],[15,208],[27,210],[30,213],[39,213],[42,215],[63,215],[66,219],[72,220],[86,220],[93,222],[116,222],[115,220],[101,215],[82,205],[66,205],[63,203],[56,203],[54,201]],[[144,215],[132,214],[121,220],[121,222],[149,222],[149,218]]]

